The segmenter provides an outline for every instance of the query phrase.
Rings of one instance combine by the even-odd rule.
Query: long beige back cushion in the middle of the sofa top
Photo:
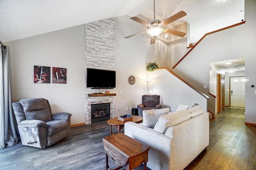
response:
[[[188,110],[164,114],[158,119],[154,130],[156,132],[165,133],[170,126],[174,126],[188,119],[190,119],[190,112],[188,112]]]

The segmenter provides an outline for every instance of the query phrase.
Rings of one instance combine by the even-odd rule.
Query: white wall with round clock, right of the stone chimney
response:
[[[147,33],[124,38],[131,34],[146,30],[147,27],[134,22],[129,16],[115,18],[115,67],[116,67],[116,116],[130,114],[130,107],[141,103],[143,94],[147,94],[145,78],[152,78],[146,71],[148,62],[160,64],[162,56],[167,54],[166,44],[156,40],[150,45],[150,36]],[[159,56],[159,58],[155,58]],[[134,85],[128,83],[128,77],[135,76]],[[152,81],[149,82],[149,86]],[[122,93],[120,91],[122,90]],[[154,93],[154,92],[153,92]],[[128,107],[128,110],[126,110]]]

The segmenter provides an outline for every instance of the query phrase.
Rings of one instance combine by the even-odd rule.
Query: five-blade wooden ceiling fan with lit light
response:
[[[132,34],[132,35],[124,37],[124,38],[130,38],[132,36],[136,36],[136,35],[143,34],[143,33],[147,32],[151,36],[150,44],[154,44],[156,42],[156,37],[159,34],[161,34],[162,32],[169,33],[169,34],[172,34],[175,36],[184,37],[186,35],[186,33],[175,31],[175,30],[170,30],[170,29],[164,28],[164,26],[166,26],[167,24],[170,24],[171,22],[174,22],[186,15],[187,15],[186,12],[180,11],[177,14],[170,16],[169,18],[167,18],[166,20],[164,20],[162,22],[160,20],[156,20],[156,18],[155,18],[155,0],[154,0],[154,20],[152,20],[150,22],[146,22],[136,16],[130,18],[136,22],[139,22],[140,24],[147,26],[148,30],[138,32],[136,34]]]

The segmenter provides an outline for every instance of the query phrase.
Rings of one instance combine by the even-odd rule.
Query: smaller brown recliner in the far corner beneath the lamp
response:
[[[160,109],[160,95],[157,94],[144,94],[142,95],[142,104],[138,104],[138,115],[142,115],[143,110]]]

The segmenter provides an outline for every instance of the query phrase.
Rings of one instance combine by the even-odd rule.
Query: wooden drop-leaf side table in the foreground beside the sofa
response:
[[[148,150],[150,146],[139,142],[123,133],[112,134],[102,139],[106,152],[105,170],[109,170],[108,156],[114,160],[119,170],[125,167],[126,170],[133,170],[144,163],[144,170],[147,169]]]

